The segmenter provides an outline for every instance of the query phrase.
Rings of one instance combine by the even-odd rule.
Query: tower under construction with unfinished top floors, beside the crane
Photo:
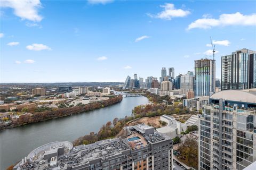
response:
[[[215,60],[195,61],[195,96],[210,96],[215,92]]]

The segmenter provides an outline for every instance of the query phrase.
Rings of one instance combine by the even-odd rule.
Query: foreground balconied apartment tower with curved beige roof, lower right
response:
[[[199,123],[199,170],[242,170],[256,161],[255,108],[256,89],[210,96]]]

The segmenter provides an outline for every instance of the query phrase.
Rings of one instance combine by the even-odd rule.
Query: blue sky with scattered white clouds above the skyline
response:
[[[255,13],[255,1],[3,0],[1,82],[184,74],[211,49],[210,36],[220,78],[222,55],[256,50]]]

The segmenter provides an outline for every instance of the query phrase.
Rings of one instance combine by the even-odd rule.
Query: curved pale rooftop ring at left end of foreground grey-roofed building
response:
[[[57,142],[51,142],[47,143],[41,147],[38,147],[31,151],[27,158],[33,162],[33,160],[41,160],[43,159],[45,151],[49,151],[51,149],[59,148],[59,147],[64,147],[65,153],[69,152],[71,149],[73,149],[73,144],[68,141],[57,141]]]

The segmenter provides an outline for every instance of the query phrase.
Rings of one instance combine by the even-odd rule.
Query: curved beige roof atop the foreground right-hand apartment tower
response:
[[[256,89],[222,90],[210,96],[210,99],[225,99],[229,101],[256,103]]]

